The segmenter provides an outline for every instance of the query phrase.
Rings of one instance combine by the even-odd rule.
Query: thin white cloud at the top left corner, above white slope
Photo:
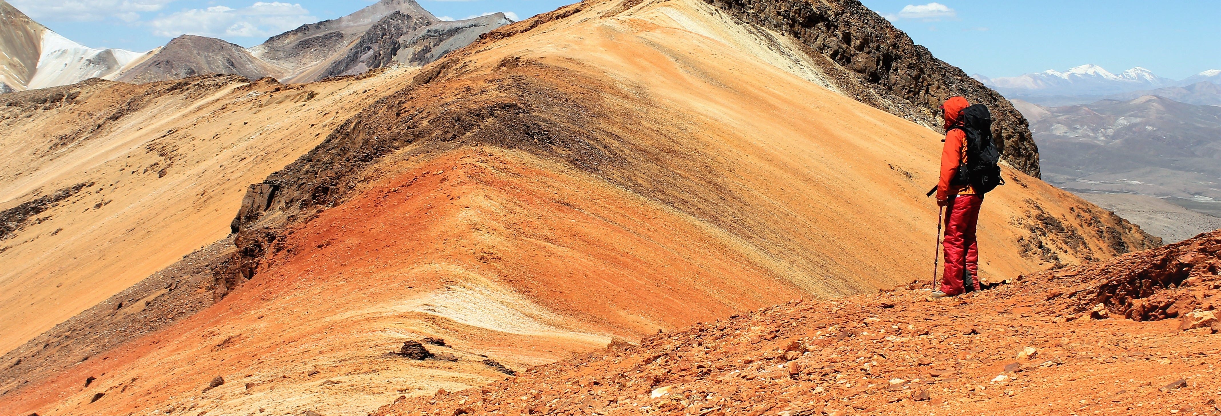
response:
[[[34,20],[123,22],[139,20],[140,12],[159,11],[175,0],[10,0],[9,2]]]

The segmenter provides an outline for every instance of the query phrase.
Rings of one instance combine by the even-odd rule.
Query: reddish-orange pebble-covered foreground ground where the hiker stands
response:
[[[1221,231],[951,299],[791,301],[377,415],[1217,415],[1219,249]]]

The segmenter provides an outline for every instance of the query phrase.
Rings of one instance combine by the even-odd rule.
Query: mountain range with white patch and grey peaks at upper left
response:
[[[424,65],[512,23],[503,13],[442,21],[414,0],[381,0],[355,13],[302,26],[250,49],[182,35],[148,52],[92,49],[0,0],[0,93],[74,84],[132,83],[233,73],[313,82],[393,63]]]

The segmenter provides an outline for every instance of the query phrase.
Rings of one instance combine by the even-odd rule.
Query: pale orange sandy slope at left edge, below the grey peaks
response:
[[[94,185],[0,240],[0,351],[223,238],[248,184],[404,73],[288,90],[236,77],[70,85],[56,89],[82,89],[71,104],[5,109],[0,209]]]

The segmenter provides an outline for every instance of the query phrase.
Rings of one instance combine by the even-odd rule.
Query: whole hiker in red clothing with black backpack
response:
[[[941,288],[933,298],[979,290],[979,245],[976,223],[984,193],[998,184],[1000,154],[991,138],[991,116],[980,104],[954,96],[941,105],[945,145],[941,148],[941,177],[937,183],[937,205],[945,207],[945,270]]]

